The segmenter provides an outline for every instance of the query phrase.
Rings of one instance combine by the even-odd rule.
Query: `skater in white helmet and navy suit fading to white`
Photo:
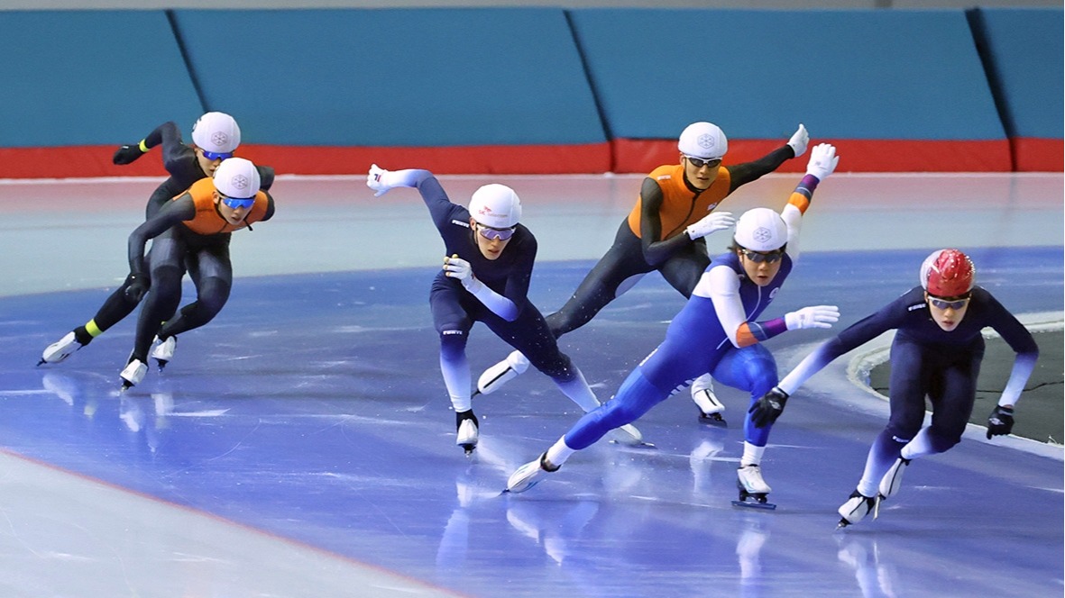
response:
[[[366,186],[380,196],[393,187],[415,187],[429,209],[446,253],[432,281],[429,305],[440,335],[440,369],[455,409],[456,444],[469,454],[477,445],[479,422],[471,400],[470,363],[465,347],[475,321],[484,322],[514,349],[528,355],[583,411],[600,405],[585,377],[558,350],[543,315],[529,301],[528,287],[537,242],[519,223],[518,195],[506,185],[485,185],[474,192],[470,207],[447,198],[428,170],[384,170],[376,164]],[[619,441],[639,443],[632,426]]]

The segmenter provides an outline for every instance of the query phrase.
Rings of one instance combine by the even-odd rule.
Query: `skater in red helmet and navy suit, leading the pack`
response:
[[[981,331],[990,327],[1017,356],[1010,380],[987,417],[987,439],[1009,434],[1013,410],[1039,350],[1028,330],[986,289],[974,286],[976,268],[956,249],[932,252],[920,269],[920,285],[841,331],[807,355],[752,408],[754,419],[771,425],[788,396],[830,362],[896,330],[888,381],[890,416],[873,441],[857,487],[839,508],[839,526],[864,519],[878,501],[892,496],[914,459],[946,452],[962,439],[977,397],[984,358]],[[932,425],[922,428],[924,397]]]

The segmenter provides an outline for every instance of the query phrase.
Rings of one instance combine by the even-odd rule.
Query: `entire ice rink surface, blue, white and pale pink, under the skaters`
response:
[[[462,203],[485,182],[518,190],[545,313],[606,250],[639,181],[442,178]],[[229,304],[181,336],[165,372],[117,392],[134,318],[35,367],[125,277],[126,236],[158,182],[0,182],[0,595],[1063,592],[1060,446],[973,427],[915,462],[879,519],[835,531],[887,414],[847,380],[846,359],[774,427],[763,468],[776,511],[731,505],[748,397],[727,387],[727,429],[700,425],[683,393],[637,422],[654,448],[601,443],[502,495],[579,411],[528,372],[475,399],[481,442],[462,455],[428,311],[442,243],[416,192],[374,198],[358,177],[279,178],[277,216],[234,235]],[[796,182],[767,177],[722,209],[780,207]],[[1061,175],[837,173],[767,316],[835,303],[852,323],[916,284],[929,251],[956,246],[1014,313],[1061,321],[1062,232]],[[649,275],[562,349],[605,400],[682,305]],[[783,375],[829,334],[767,347]],[[507,350],[475,327],[475,376]]]

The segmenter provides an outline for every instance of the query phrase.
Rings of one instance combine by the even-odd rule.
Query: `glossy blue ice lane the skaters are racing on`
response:
[[[836,303],[841,325],[856,321],[915,284],[924,254],[803,255],[767,315]],[[973,259],[1011,310],[1061,310],[1061,248]],[[539,265],[534,300],[557,308],[590,265]],[[0,438],[13,452],[475,596],[697,595],[708,584],[737,596],[1060,592],[1060,462],[963,443],[911,468],[880,520],[833,533],[884,422],[814,401],[774,430],[764,466],[775,513],[730,506],[748,399],[728,388],[731,429],[700,427],[679,397],[638,422],[656,449],[601,444],[529,493],[499,496],[507,474],[579,413],[526,375],[477,400],[482,442],[461,456],[428,314],[432,273],[240,279],[223,314],[181,337],[167,371],[124,396],[116,381],[133,318],[67,363],[33,367],[105,292],[4,299],[0,334],[15,342],[0,347]],[[648,277],[563,349],[605,399],[682,303]],[[474,329],[475,376],[505,352]]]

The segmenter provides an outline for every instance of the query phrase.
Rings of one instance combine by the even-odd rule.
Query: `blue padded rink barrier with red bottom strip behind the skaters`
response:
[[[846,170],[1059,171],[1061,54],[1045,46],[1061,47],[1061,22],[1054,9],[0,12],[0,178],[159,175],[158,159],[111,153],[166,120],[187,140],[206,110],[234,114],[241,153],[279,173],[646,172],[698,119],[725,130],[731,163],[804,122],[847,149]]]

